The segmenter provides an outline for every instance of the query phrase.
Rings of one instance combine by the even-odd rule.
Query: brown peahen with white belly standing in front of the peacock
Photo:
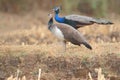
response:
[[[66,42],[71,42],[74,45],[80,46],[83,44],[86,48],[92,50],[91,45],[86,41],[83,35],[68,24],[54,24],[52,14],[49,14],[48,29],[64,44],[66,51]]]

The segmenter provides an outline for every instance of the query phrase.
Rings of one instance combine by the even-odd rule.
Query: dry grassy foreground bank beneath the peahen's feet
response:
[[[111,46],[112,49],[111,48]],[[55,46],[55,50],[53,48]],[[19,68],[26,79],[36,80],[38,69],[42,69],[41,80],[57,80],[69,79],[78,80],[86,79],[89,72],[94,78],[96,73],[94,68],[102,67],[106,77],[118,76],[119,74],[119,58],[120,53],[118,43],[111,44],[95,44],[94,50],[87,50],[85,47],[74,47],[68,45],[67,52],[60,53],[56,49],[56,45],[42,44],[38,45],[13,45],[0,47],[0,60],[3,70],[6,69],[5,75],[8,77],[10,73],[14,74]],[[71,50],[72,48],[72,50]],[[104,50],[104,48],[106,48]],[[15,62],[15,63],[14,63]],[[6,73],[9,72],[9,73]],[[13,77],[14,78],[14,77]],[[23,77],[24,78],[24,77]],[[116,79],[117,80],[117,79]]]

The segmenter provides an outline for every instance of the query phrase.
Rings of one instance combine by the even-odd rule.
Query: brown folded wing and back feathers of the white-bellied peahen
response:
[[[82,43],[86,43],[86,39],[80,34],[79,31],[75,30],[69,25],[66,24],[56,24],[57,27],[62,31],[64,38],[67,41],[75,45],[80,45]]]

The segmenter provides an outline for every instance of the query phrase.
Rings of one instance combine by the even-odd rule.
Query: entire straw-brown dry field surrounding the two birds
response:
[[[105,77],[98,80],[120,80],[120,22],[112,20],[111,26],[79,29],[93,50],[68,43],[63,53],[47,29],[47,13],[0,13],[0,80],[16,77],[17,69],[22,80],[37,80],[38,69],[41,80],[97,80],[96,68],[102,68]]]

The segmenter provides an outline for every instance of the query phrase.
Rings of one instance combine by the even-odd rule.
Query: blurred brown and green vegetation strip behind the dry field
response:
[[[0,0],[0,11],[21,13],[31,10],[50,10],[61,5],[65,13],[83,13],[94,16],[120,14],[120,0]]]

